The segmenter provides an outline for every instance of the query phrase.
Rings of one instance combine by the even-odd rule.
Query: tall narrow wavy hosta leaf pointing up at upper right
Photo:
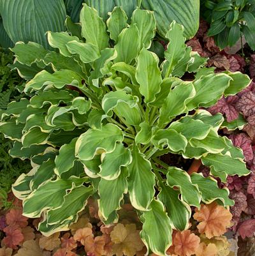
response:
[[[184,57],[186,52],[186,38],[183,35],[184,28],[175,21],[171,22],[166,38],[170,40],[168,49],[164,52],[166,60],[163,62],[164,77],[169,77],[175,66]]]

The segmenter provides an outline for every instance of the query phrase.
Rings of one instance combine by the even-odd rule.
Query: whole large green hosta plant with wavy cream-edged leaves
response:
[[[84,5],[81,27],[48,32],[57,52],[17,43],[15,66],[33,78],[25,93],[34,96],[10,103],[0,131],[15,140],[11,156],[31,159],[33,169],[17,179],[13,193],[23,200],[24,216],[43,216],[43,234],[68,230],[92,195],[106,224],[117,222],[117,210],[130,200],[149,252],[165,255],[172,229],[188,229],[191,206],[214,200],[232,206],[233,200],[215,179],[189,176],[160,156],[201,159],[222,182],[248,175],[242,151],[217,133],[222,114],[200,107],[238,93],[250,80],[240,72],[201,68],[207,59],[186,46],[176,22],[159,65],[148,50],[154,14],[137,9],[131,24],[127,20],[118,7],[105,24]],[[181,80],[186,72],[196,73],[194,80]]]

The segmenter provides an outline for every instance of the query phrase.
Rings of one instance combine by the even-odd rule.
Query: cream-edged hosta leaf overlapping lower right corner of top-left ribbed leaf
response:
[[[69,41],[79,41],[77,36],[70,36],[66,32],[50,32],[48,31],[48,43],[51,47],[59,49],[59,52],[66,57],[71,57],[67,43]]]

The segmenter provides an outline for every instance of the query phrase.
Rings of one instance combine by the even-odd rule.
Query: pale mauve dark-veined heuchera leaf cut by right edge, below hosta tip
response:
[[[244,116],[255,114],[255,93],[248,91],[247,93],[242,94],[236,107],[238,111],[244,114]]]

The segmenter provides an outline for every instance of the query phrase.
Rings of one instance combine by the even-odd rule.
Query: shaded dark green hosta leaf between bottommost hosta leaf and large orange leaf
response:
[[[171,227],[177,230],[188,229],[189,218],[191,218],[191,207],[179,199],[179,190],[174,190],[164,183],[160,183],[161,190],[157,199],[166,206],[170,218]]]

